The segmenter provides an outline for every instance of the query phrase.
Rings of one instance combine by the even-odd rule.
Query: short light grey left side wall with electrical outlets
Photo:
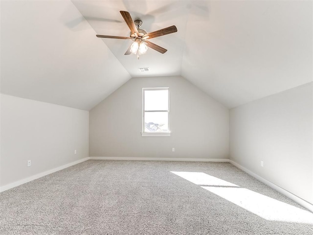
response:
[[[0,110],[1,187],[89,157],[88,111],[5,94]]]

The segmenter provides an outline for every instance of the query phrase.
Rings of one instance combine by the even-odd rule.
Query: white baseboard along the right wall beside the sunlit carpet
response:
[[[285,195],[286,197],[289,197],[291,200],[295,201],[296,203],[300,204],[301,206],[303,206],[304,208],[308,209],[309,211],[313,212],[313,205],[305,200],[303,200],[302,198],[294,195],[293,193],[287,191],[284,188],[280,188],[279,186],[271,183],[270,181],[264,179],[263,177],[253,173],[252,171],[248,170],[247,168],[245,168],[244,166],[235,163],[232,160],[229,160],[229,162],[231,164],[233,164],[234,166],[238,167],[239,169],[245,171],[246,173],[248,173],[249,175],[253,176],[254,178],[258,179],[259,181],[263,182],[264,184],[268,185],[270,188],[274,188],[276,191],[280,192],[281,194]]]

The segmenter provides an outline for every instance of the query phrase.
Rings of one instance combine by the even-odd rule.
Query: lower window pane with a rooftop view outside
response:
[[[168,131],[167,112],[145,112],[145,132]]]

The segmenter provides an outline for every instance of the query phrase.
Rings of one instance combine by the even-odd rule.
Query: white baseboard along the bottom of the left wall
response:
[[[36,180],[36,179],[38,179],[38,178],[40,178],[40,177],[43,177],[43,176],[45,176],[45,175],[54,173],[54,172],[56,172],[56,171],[63,170],[63,169],[65,169],[65,168],[69,167],[69,166],[72,166],[72,165],[76,165],[76,164],[85,162],[85,161],[87,161],[87,160],[89,160],[89,157],[83,158],[83,159],[80,159],[80,160],[77,160],[77,161],[72,162],[72,163],[68,163],[68,164],[65,164],[65,165],[61,165],[61,166],[56,167],[56,168],[54,168],[54,169],[47,170],[47,171],[45,171],[45,172],[42,172],[42,173],[39,173],[39,174],[30,176],[30,177],[28,177],[28,178],[25,178],[25,179],[22,179],[22,180],[13,182],[13,183],[11,183],[11,184],[2,186],[2,187],[0,187],[0,192],[3,192],[3,191],[8,190],[8,189],[10,189],[10,188],[17,187],[17,186],[22,185],[22,184],[25,184],[25,183],[27,183],[27,182],[29,182],[29,181]]]

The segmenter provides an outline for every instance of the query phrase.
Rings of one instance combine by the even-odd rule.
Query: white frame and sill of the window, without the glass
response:
[[[168,110],[149,110],[145,111],[145,91],[158,91],[167,90],[168,91]],[[167,132],[145,132],[145,112],[167,112],[168,118],[168,131]],[[141,136],[171,136],[170,132],[170,88],[169,87],[152,87],[152,88],[142,88],[142,132]]]

